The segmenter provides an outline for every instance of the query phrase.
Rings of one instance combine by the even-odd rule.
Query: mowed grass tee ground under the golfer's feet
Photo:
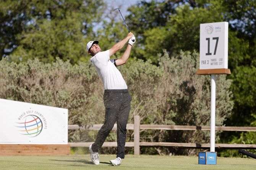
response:
[[[69,156],[0,156],[0,170],[253,170],[256,159],[217,157],[217,165],[199,165],[196,156],[126,155],[120,166],[109,160],[115,155],[100,154],[94,165],[89,154]]]

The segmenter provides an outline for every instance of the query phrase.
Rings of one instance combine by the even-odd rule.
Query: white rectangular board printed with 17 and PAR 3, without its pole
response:
[[[228,22],[200,24],[199,69],[228,68]]]

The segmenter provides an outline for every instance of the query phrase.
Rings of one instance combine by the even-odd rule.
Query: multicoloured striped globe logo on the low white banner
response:
[[[18,127],[18,130],[22,135],[36,137],[42,132],[43,124],[39,117],[28,115],[21,121],[22,122],[16,122],[16,127]]]

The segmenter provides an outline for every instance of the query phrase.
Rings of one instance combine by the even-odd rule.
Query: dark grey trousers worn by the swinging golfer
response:
[[[131,109],[131,95],[128,89],[105,90],[103,95],[105,105],[105,121],[100,128],[92,151],[98,152],[105,139],[117,121],[117,157],[125,158],[126,124]]]

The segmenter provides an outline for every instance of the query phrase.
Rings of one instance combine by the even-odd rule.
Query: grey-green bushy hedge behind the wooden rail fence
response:
[[[209,126],[211,113],[211,76],[196,75],[199,54],[183,52],[169,56],[163,50],[157,56],[159,65],[150,60],[130,59],[121,71],[133,100],[128,123],[134,115],[141,124]],[[230,79],[217,75],[216,126],[230,116],[233,102],[229,91]],[[71,65],[57,59],[46,64],[38,59],[19,64],[0,61],[0,98],[41,105],[67,108],[68,124],[102,124],[104,122],[103,84],[92,64],[80,62]],[[209,131],[141,130],[143,142],[208,143]],[[219,139],[216,132],[216,140]],[[97,131],[72,130],[70,142],[94,141]],[[116,141],[110,132],[106,141]],[[133,131],[128,130],[127,141],[133,141]],[[103,152],[115,153],[105,148]],[[128,152],[133,152],[128,149]],[[194,154],[194,149],[142,148],[147,154]]]

